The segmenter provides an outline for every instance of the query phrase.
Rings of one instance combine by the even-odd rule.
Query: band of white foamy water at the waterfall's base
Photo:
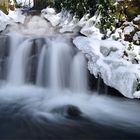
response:
[[[74,105],[81,110],[83,117],[97,123],[129,128],[131,131],[140,128],[139,103],[133,101],[36,86],[4,87],[0,90],[0,101],[22,105],[21,112],[24,110],[24,113],[27,111],[34,117],[43,116],[58,122],[65,116],[51,111],[65,105]]]

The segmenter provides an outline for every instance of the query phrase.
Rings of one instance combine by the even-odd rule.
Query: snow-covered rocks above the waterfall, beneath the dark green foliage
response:
[[[79,20],[68,11],[61,11],[57,14],[52,8],[46,8],[41,13],[42,17],[49,21],[54,28],[58,28],[60,33],[78,33],[88,19],[88,15],[85,15]]]

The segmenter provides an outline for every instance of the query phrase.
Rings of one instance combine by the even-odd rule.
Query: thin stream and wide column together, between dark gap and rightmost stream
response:
[[[46,43],[39,56],[36,84],[51,89],[68,88],[72,46],[60,37],[59,40],[48,38]]]

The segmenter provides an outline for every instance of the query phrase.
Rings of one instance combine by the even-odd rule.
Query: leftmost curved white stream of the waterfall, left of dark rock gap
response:
[[[28,57],[30,54],[32,42],[30,40],[23,41],[13,54],[11,61],[8,83],[14,85],[23,85],[26,79],[26,68]]]

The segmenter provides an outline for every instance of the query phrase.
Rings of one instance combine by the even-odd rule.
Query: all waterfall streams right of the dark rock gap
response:
[[[47,40],[43,46],[38,63],[38,86],[51,89],[87,89],[87,68],[84,56],[77,53],[73,57],[73,46],[62,38]]]

